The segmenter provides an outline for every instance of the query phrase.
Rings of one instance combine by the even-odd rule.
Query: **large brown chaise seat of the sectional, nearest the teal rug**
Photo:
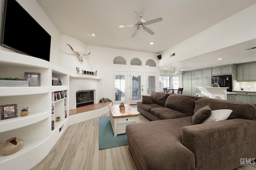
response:
[[[147,170],[191,170],[194,154],[182,145],[182,127],[192,125],[192,116],[126,125],[128,147],[136,162]]]

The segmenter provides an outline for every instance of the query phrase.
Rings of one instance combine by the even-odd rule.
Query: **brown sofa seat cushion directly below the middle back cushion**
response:
[[[180,111],[170,109],[168,107],[152,108],[150,112],[152,115],[155,115],[160,119],[176,119],[176,118],[188,116],[184,113],[181,113]]]

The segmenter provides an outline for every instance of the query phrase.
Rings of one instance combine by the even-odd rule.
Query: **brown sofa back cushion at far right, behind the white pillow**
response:
[[[228,119],[255,119],[256,107],[250,103],[232,102],[220,99],[201,98],[196,100],[194,113],[204,106],[209,105],[212,110],[231,109],[233,110]]]

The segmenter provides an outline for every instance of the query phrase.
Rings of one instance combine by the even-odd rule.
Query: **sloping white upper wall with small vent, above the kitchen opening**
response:
[[[159,66],[256,39],[256,4],[161,53]],[[170,59],[170,54],[176,55]]]

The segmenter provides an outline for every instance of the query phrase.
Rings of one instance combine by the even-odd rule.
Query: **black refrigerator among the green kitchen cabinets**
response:
[[[220,87],[228,87],[227,92],[232,92],[232,76],[212,76],[212,84],[217,83]],[[218,87],[216,84],[213,87]]]

